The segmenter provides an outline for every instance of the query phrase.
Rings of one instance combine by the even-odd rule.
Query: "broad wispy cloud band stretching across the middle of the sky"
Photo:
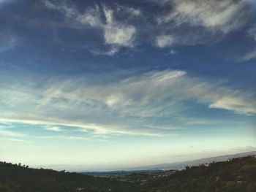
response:
[[[116,74],[109,75],[115,79]],[[53,127],[69,126],[96,134],[163,136],[167,135],[162,132],[165,129],[145,126],[157,126],[148,118],[191,117],[189,105],[256,114],[252,93],[192,77],[180,70],[131,74],[114,82],[105,82],[103,78],[96,84],[83,77],[48,78],[45,82],[34,78],[32,82],[26,84],[26,80],[20,79],[8,82],[7,87],[1,82],[1,122],[48,126],[50,131],[59,131]]]

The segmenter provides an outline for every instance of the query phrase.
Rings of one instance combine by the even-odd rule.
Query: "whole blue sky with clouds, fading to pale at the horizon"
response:
[[[99,171],[256,150],[255,9],[0,0],[0,161]]]

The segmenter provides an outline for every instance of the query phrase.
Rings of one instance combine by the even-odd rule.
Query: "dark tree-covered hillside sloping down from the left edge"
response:
[[[130,183],[0,162],[0,192],[138,191]]]

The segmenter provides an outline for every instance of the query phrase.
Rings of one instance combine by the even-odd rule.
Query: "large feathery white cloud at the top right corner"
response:
[[[174,21],[176,25],[188,23],[211,31],[228,33],[244,26],[249,9],[246,1],[174,0],[168,15],[158,18],[159,23]]]

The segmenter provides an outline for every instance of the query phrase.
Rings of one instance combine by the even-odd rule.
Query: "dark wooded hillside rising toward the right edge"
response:
[[[256,158],[233,158],[224,162],[187,167],[148,183],[143,191],[255,192]]]

